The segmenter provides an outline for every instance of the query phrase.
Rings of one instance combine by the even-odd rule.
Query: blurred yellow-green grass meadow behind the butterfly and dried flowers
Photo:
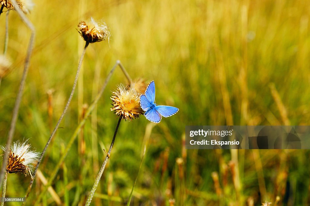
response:
[[[78,89],[39,168],[42,176],[49,178],[83,105],[92,102],[119,59],[132,79],[155,80],[157,103],[180,110],[158,125],[144,116],[121,122],[94,205],[126,203],[145,143],[132,205],[264,201],[276,205],[276,196],[277,205],[310,204],[308,150],[197,151],[185,150],[183,144],[186,125],[309,125],[309,2],[42,0],[35,4],[28,15],[36,28],[35,48],[14,140],[30,138],[37,151],[45,146],[72,88],[84,46],[76,31],[79,21],[92,16],[106,22],[112,34],[109,43],[91,44],[86,52]],[[0,28],[4,42],[5,14],[0,16]],[[11,11],[7,54],[13,65],[0,87],[2,145],[29,37],[30,31]],[[52,185],[57,195],[47,193],[42,205],[85,204],[105,157],[103,148],[113,137],[117,117],[110,112],[109,98],[120,83],[127,82],[117,68]],[[52,116],[48,90],[53,91]],[[41,180],[36,177],[27,205],[40,193]],[[7,196],[24,196],[29,181],[23,174],[9,174]]]

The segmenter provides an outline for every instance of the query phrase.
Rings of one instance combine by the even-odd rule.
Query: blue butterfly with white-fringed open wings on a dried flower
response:
[[[155,102],[155,83],[152,81],[145,90],[145,94],[140,95],[140,106],[144,116],[151,122],[158,123],[163,117],[172,116],[179,111],[176,107],[156,105]]]

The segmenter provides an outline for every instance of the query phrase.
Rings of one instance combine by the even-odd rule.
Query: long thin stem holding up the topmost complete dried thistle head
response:
[[[76,88],[76,85],[77,85],[77,82],[78,82],[78,76],[79,76],[80,69],[81,69],[81,66],[82,66],[82,61],[83,61],[83,59],[84,59],[84,55],[85,55],[85,53],[86,53],[86,49],[87,49],[87,46],[88,46],[88,45],[89,45],[89,43],[86,42],[86,44],[85,44],[85,46],[84,46],[84,50],[83,50],[82,55],[81,55],[81,58],[80,58],[79,63],[78,63],[78,70],[77,70],[77,73],[76,73],[76,75],[75,75],[75,79],[74,79],[74,82],[73,82],[73,87],[72,87],[71,94],[70,94],[70,96],[69,96],[68,102],[67,102],[66,106],[64,107],[64,111],[62,112],[62,114],[61,114],[61,116],[60,116],[60,118],[59,118],[59,120],[58,120],[58,122],[57,122],[57,124],[56,124],[56,126],[55,126],[55,128],[54,128],[54,130],[53,130],[52,133],[51,133],[50,138],[48,139],[48,141],[47,141],[47,143],[46,143],[46,145],[45,145],[45,147],[44,147],[44,149],[43,149],[43,151],[42,151],[41,157],[40,157],[40,159],[39,159],[39,161],[38,161],[38,164],[37,164],[36,168],[34,169],[34,172],[33,172],[33,175],[32,175],[32,176],[33,176],[33,180],[34,180],[34,178],[35,178],[35,176],[36,176],[37,170],[38,170],[39,165],[40,165],[40,163],[41,163],[41,161],[42,161],[42,159],[43,159],[43,156],[44,156],[44,154],[45,154],[45,152],[46,152],[46,150],[47,150],[47,147],[49,146],[49,144],[50,144],[52,138],[54,137],[54,135],[55,135],[55,133],[56,133],[56,131],[57,131],[59,125],[60,125],[60,122],[61,122],[62,119],[64,118],[64,115],[66,114],[66,112],[67,112],[67,110],[68,110],[68,108],[69,108],[71,99],[72,99],[72,97],[73,97],[73,94],[74,94],[74,91],[75,91],[75,88]],[[32,187],[32,184],[33,184],[33,180],[31,180],[31,182],[30,182],[30,184],[29,184],[29,186],[28,186],[28,190],[27,190],[27,193],[26,193],[26,198],[28,197],[29,192],[31,191],[31,187]],[[25,203],[25,202],[24,202],[24,203]],[[24,205],[24,203],[23,203],[23,205]]]

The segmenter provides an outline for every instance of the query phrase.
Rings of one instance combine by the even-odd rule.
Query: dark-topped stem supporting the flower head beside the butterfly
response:
[[[116,125],[116,127],[115,127],[115,131],[114,131],[113,139],[112,139],[112,142],[111,142],[110,149],[109,149],[108,154],[107,154],[107,156],[105,157],[105,160],[104,160],[104,162],[103,162],[103,164],[102,164],[102,167],[101,167],[101,169],[100,169],[100,171],[99,171],[99,173],[98,173],[98,175],[97,175],[97,178],[96,178],[95,183],[94,183],[94,185],[93,185],[93,188],[91,189],[91,192],[90,192],[90,194],[89,194],[89,196],[88,196],[88,198],[87,198],[87,201],[86,201],[85,206],[89,206],[89,205],[91,204],[91,199],[93,198],[93,196],[94,196],[94,194],[95,194],[95,191],[96,191],[96,189],[97,189],[97,186],[98,186],[98,184],[99,184],[99,181],[100,181],[100,179],[101,179],[101,176],[102,176],[102,174],[103,174],[103,172],[104,172],[105,165],[107,165],[107,163],[108,163],[108,159],[109,159],[109,157],[110,157],[111,150],[112,150],[112,147],[113,147],[113,145],[114,145],[115,137],[116,137],[116,134],[117,134],[117,131],[118,131],[118,127],[119,127],[121,121],[122,121],[122,116],[120,116],[119,119],[118,119],[117,125]]]

